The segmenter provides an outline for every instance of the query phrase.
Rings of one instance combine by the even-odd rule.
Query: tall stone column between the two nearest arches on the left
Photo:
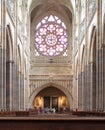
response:
[[[12,78],[12,109],[13,110],[19,110],[19,102],[18,102],[18,67],[17,67],[17,23],[18,23],[18,12],[17,12],[17,1],[15,1],[15,21],[14,23],[16,24],[16,27],[14,28],[14,48],[13,48],[13,67],[12,67],[12,74],[13,74],[13,78]]]

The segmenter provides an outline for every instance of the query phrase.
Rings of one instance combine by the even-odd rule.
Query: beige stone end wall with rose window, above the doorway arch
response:
[[[74,11],[72,3],[69,0],[61,0],[58,2],[56,0],[46,2],[43,0],[39,0],[38,2],[32,0],[29,10],[31,14],[30,61],[32,67],[30,73],[30,81],[31,78],[32,81],[30,82],[29,88],[29,107],[32,106],[36,92],[44,88],[43,81],[40,77],[43,79],[45,77],[49,78],[48,75],[50,73],[54,73],[58,77],[61,83],[57,83],[61,86],[58,87],[59,85],[56,84],[54,86],[57,86],[63,92],[69,93],[68,99],[71,103],[73,98],[72,92],[70,93],[72,90],[71,88],[69,89],[71,87],[71,81],[69,81],[69,84],[68,81],[63,81],[63,79],[65,80],[65,75],[67,77],[72,75],[72,22]],[[37,73],[37,65],[40,68],[39,73]],[[57,65],[59,65],[59,70]],[[63,70],[65,72],[61,72]],[[38,77],[39,80],[37,81]],[[42,86],[39,86],[38,84],[41,83]],[[67,84],[67,86],[64,86],[64,84]]]

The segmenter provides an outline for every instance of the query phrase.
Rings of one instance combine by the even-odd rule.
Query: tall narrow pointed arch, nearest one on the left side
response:
[[[11,109],[13,42],[10,26],[6,28],[6,109]]]

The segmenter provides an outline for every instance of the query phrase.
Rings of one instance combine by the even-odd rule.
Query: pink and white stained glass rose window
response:
[[[65,24],[57,16],[46,16],[36,26],[35,47],[44,56],[58,56],[67,50]]]

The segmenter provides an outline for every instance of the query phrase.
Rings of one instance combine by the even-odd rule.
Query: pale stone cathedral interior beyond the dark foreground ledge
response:
[[[105,117],[104,36],[105,0],[0,0],[0,116]]]

